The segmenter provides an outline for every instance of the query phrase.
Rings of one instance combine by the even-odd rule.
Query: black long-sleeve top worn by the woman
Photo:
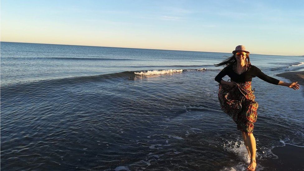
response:
[[[221,70],[219,74],[217,74],[215,80],[221,83],[222,78],[228,75],[231,81],[235,81],[237,83],[252,81],[253,77],[259,77],[260,79],[275,85],[278,85],[278,83],[280,82],[280,80],[269,77],[268,75],[264,74],[258,67],[254,65],[248,64],[246,70],[242,74],[238,74],[235,68],[236,64],[232,64],[225,67],[223,70]]]

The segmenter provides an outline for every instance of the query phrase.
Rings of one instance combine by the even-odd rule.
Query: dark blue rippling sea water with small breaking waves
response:
[[[221,111],[226,53],[1,42],[1,169],[245,170],[247,150]],[[250,55],[275,76],[303,56]],[[228,77],[224,79],[228,80]],[[292,80],[296,81],[296,80]],[[300,90],[253,78],[257,161],[304,147]],[[275,170],[258,163],[257,170]]]

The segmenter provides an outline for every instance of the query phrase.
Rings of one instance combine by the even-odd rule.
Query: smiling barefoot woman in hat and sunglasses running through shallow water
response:
[[[251,80],[253,77],[259,77],[262,80],[275,85],[287,86],[295,90],[300,88],[297,82],[285,83],[278,79],[272,78],[264,74],[259,68],[250,64],[249,52],[245,46],[238,45],[232,51],[233,56],[224,60],[215,66],[226,66],[216,77],[219,82],[218,98],[221,109],[227,113],[237,124],[237,129],[241,131],[246,149],[250,156],[250,164],[248,170],[255,170],[256,145],[253,136],[254,122],[257,119],[258,103],[254,101],[253,90],[251,89]],[[228,75],[230,82],[222,80]],[[229,80],[228,80],[229,81]]]

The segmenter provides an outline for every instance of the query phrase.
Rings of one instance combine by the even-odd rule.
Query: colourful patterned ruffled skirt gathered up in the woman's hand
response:
[[[254,101],[251,81],[236,83],[233,88],[224,84],[219,86],[218,98],[221,109],[235,121],[238,130],[252,133],[259,105]]]

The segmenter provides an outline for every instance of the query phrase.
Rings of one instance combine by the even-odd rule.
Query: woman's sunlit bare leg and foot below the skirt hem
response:
[[[256,144],[255,144],[255,138],[252,133],[245,133],[246,136],[246,142],[250,151],[250,163],[248,166],[248,170],[255,170],[256,167],[256,160],[255,160],[255,153],[256,153]]]

